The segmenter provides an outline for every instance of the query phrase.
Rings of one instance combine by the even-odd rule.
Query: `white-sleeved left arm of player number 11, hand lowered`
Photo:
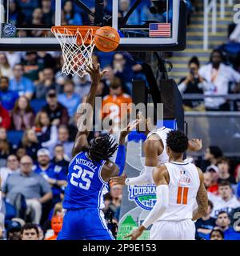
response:
[[[154,183],[157,186],[157,202],[155,203],[153,210],[150,211],[150,214],[148,214],[144,222],[142,222],[142,225],[139,226],[137,230],[134,230],[132,234],[126,236],[126,238],[131,238],[132,240],[138,239],[144,230],[156,222],[162,214],[165,213],[169,204],[169,182],[170,177],[166,166],[159,166],[154,169]]]

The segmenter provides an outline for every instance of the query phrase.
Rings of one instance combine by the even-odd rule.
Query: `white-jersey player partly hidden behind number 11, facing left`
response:
[[[152,172],[154,167],[162,166],[169,160],[166,154],[166,137],[171,131],[166,127],[154,129],[154,124],[150,118],[145,118],[141,112],[138,113],[138,131],[144,132],[147,136],[143,145],[145,154],[145,167],[143,174],[134,178],[121,177],[111,178],[113,184],[142,186],[143,184],[153,183]],[[202,149],[202,140],[193,138],[188,142],[188,150],[198,151]]]

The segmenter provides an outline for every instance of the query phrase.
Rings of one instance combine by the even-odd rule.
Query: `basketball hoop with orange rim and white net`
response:
[[[53,26],[52,33],[62,48],[62,74],[86,74],[86,66],[92,66],[94,34],[99,26]]]

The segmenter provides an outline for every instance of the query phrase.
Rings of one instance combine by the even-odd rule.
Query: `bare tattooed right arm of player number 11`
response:
[[[198,220],[198,218],[202,218],[202,216],[206,215],[207,212],[207,207],[208,207],[208,198],[207,198],[207,193],[206,193],[206,188],[204,186],[204,178],[202,174],[202,170],[198,169],[198,174],[200,178],[200,186],[198,189],[198,194],[197,194],[197,202],[198,202],[198,208],[194,210],[193,213],[193,221]]]

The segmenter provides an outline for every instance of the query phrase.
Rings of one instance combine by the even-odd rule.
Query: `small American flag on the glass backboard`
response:
[[[171,24],[170,23],[150,23],[149,36],[151,38],[170,38]]]

